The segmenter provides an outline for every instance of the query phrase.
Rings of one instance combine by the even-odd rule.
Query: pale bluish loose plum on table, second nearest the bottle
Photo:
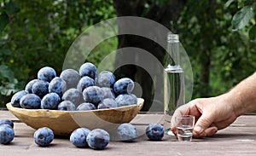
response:
[[[138,136],[138,131],[134,125],[124,123],[119,125],[117,129],[117,136],[119,136],[120,141],[133,142]]]

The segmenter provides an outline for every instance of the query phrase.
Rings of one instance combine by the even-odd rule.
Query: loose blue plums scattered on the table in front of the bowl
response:
[[[138,136],[136,127],[130,123],[119,124],[116,133],[122,142],[133,142]],[[163,126],[154,123],[148,124],[146,136],[151,141],[161,141],[164,136]],[[47,147],[54,140],[55,135],[48,127],[42,127],[34,132],[33,137],[34,142],[39,147]],[[14,123],[9,119],[0,119],[0,143],[8,145],[14,138]],[[73,130],[69,140],[75,147],[90,147],[101,150],[108,146],[110,136],[106,130],[78,128]]]

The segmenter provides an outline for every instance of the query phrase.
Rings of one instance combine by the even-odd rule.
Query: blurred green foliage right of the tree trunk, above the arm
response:
[[[193,98],[222,94],[255,71],[254,10],[248,0],[188,1],[176,30],[192,63]]]

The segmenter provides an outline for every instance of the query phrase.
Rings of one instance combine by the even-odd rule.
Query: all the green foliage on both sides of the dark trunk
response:
[[[143,3],[149,9],[170,1]],[[253,0],[188,0],[172,21],[192,64],[193,98],[222,94],[255,71],[254,10]],[[0,0],[0,107],[37,78],[42,66],[53,66],[59,74],[74,39],[115,16],[111,0]],[[108,39],[87,61],[97,65],[117,45],[117,38]],[[209,81],[204,81],[206,72]]]

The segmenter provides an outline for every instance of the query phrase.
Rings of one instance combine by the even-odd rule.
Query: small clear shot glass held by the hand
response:
[[[191,142],[195,125],[195,116],[182,115],[175,118],[177,140],[180,142]]]

